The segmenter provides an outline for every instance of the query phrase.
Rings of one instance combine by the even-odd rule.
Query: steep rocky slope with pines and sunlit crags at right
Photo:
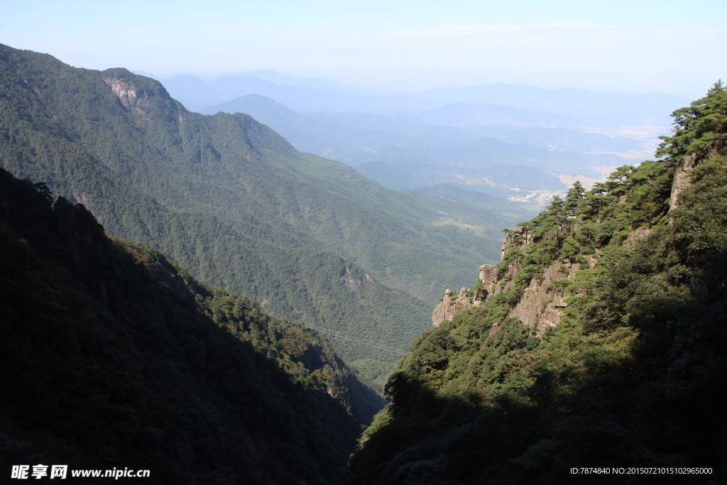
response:
[[[727,90],[674,116],[663,159],[574,185],[448,295],[347,483],[727,480]]]

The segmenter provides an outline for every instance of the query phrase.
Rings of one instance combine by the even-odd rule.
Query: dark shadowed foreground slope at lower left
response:
[[[0,289],[4,465],[328,484],[382,405],[320,334],[3,169]]]

